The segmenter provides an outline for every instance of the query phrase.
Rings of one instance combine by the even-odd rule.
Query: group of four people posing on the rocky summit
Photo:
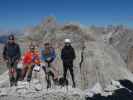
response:
[[[66,79],[67,71],[70,71],[73,87],[76,87],[74,72],[73,72],[73,61],[76,58],[75,51],[71,46],[71,40],[64,40],[65,46],[61,50],[61,59],[63,63],[63,78]],[[32,78],[32,71],[35,65],[41,66],[41,63],[44,62],[45,66],[42,66],[42,69],[46,73],[48,66],[56,67],[53,65],[53,62],[56,59],[55,49],[51,46],[51,43],[46,42],[44,48],[39,50],[34,44],[29,46],[23,57],[21,57],[21,50],[19,44],[16,43],[14,35],[9,35],[8,41],[4,46],[3,58],[9,69],[9,79],[10,86],[17,86],[18,80],[24,80],[27,76],[27,81],[30,82]],[[18,69],[17,65],[22,61],[23,68]],[[56,68],[55,68],[56,69]],[[58,80],[57,71],[53,70],[53,79]]]

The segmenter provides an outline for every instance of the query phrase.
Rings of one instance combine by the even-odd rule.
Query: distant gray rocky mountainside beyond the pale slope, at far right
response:
[[[115,27],[105,32],[108,43],[111,44],[127,63],[128,51],[133,44],[133,30],[124,27]]]

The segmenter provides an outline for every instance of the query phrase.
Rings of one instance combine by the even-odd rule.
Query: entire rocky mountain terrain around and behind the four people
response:
[[[52,88],[46,89],[45,74],[40,71],[41,79],[33,77],[31,83],[19,81],[18,86],[10,88],[5,72],[0,76],[0,100],[132,100],[133,74],[126,62],[128,43],[122,42],[125,32],[129,34],[132,30],[123,27],[88,28],[73,23],[61,25],[52,17],[36,27],[25,29],[24,35],[17,37],[24,48],[31,41],[37,41],[40,47],[44,41],[52,42],[57,52],[59,76],[63,73],[62,41],[66,37],[72,40],[76,51],[74,74],[77,87],[72,88],[68,74],[68,86],[53,84]]]

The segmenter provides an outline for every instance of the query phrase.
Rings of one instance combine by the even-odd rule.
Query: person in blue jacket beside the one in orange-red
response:
[[[57,79],[56,70],[54,67],[54,60],[56,58],[55,49],[51,46],[49,42],[44,44],[44,48],[41,50],[41,60],[45,63],[45,66],[42,66],[47,80],[47,88],[51,87],[50,80],[47,77],[47,74],[50,73],[54,81]]]

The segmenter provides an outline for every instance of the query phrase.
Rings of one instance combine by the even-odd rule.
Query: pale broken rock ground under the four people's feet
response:
[[[41,88],[40,88],[41,87]],[[44,85],[46,87],[46,85]],[[31,84],[19,82],[17,87],[4,87],[0,90],[0,100],[84,100],[83,92],[72,87],[42,88],[38,80]]]

